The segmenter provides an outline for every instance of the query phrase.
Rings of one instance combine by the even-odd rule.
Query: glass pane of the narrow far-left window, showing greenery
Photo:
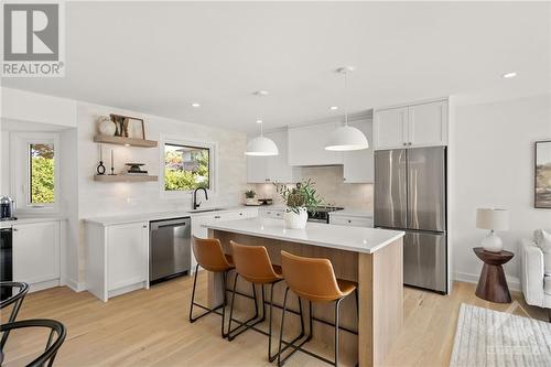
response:
[[[54,144],[29,144],[29,204],[55,203]]]

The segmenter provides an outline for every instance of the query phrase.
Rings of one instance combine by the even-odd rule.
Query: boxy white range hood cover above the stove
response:
[[[343,153],[325,150],[325,143],[341,122],[289,128],[290,165],[343,164]]]

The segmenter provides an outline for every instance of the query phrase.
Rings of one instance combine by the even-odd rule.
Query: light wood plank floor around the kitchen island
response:
[[[199,295],[206,294],[206,274],[199,277]],[[219,336],[220,319],[210,315],[190,324],[187,311],[193,279],[180,278],[128,293],[102,303],[87,292],[56,288],[29,294],[21,319],[56,319],[68,330],[56,366],[270,366],[267,337],[249,331],[229,343]],[[499,311],[474,294],[475,285],[455,283],[449,296],[404,288],[404,327],[392,346],[386,366],[447,366],[460,304]],[[515,300],[531,317],[547,320],[543,310]],[[514,313],[523,314],[518,307]],[[2,312],[6,322],[9,311]],[[10,335],[3,366],[32,360],[47,336],[37,332]],[[321,361],[295,354],[288,366],[321,366]]]

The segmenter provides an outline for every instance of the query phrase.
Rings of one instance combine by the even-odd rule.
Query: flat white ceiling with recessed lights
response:
[[[3,85],[244,131],[339,117],[343,65],[354,112],[551,89],[549,2],[68,2],[66,19],[65,78]]]

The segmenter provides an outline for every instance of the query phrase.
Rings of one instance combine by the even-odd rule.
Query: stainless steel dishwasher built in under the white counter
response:
[[[192,260],[190,217],[153,220],[149,228],[150,283],[188,274]]]

